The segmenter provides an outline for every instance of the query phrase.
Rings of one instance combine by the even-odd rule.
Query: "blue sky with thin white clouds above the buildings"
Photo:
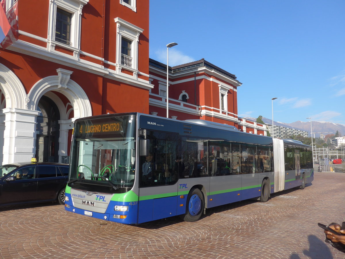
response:
[[[235,74],[238,115],[345,125],[345,1],[150,0],[150,58]]]

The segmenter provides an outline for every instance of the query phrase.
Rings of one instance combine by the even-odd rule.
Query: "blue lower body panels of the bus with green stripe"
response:
[[[314,180],[314,170],[307,169],[304,172],[305,183],[311,183]],[[284,190],[295,188],[302,185],[302,175],[295,175],[295,171],[288,171],[286,174],[289,175],[285,178]],[[268,175],[268,176],[267,176]],[[89,210],[78,209],[73,206],[73,200],[70,193],[66,193],[68,197],[65,204],[65,209],[70,212],[78,213],[81,215],[88,215],[89,217],[108,220],[124,224],[138,224],[148,222],[152,220],[158,220],[168,218],[176,215],[182,215],[186,213],[187,196],[191,189],[197,187],[204,190],[205,208],[213,208],[219,205],[242,201],[246,199],[258,198],[261,195],[261,183],[263,179],[269,179],[270,193],[274,193],[274,176],[273,173],[265,175],[254,174],[252,177],[252,184],[248,186],[242,186],[240,188],[224,188],[226,185],[236,185],[236,182],[242,181],[246,178],[243,175],[233,176],[217,176],[211,178],[198,178],[201,180],[201,184],[194,185],[197,179],[180,179],[175,185],[169,186],[176,190],[175,192],[169,192],[165,194],[155,195],[155,188],[150,187],[141,188],[141,192],[145,194],[145,189],[148,195],[140,196],[137,202],[124,202],[124,201],[110,201],[107,205],[105,213],[99,213],[92,211],[92,206]],[[248,176],[248,175],[247,175]],[[249,176],[248,176],[249,177]],[[288,178],[291,179],[288,179]],[[217,184],[212,185],[214,182]],[[231,184],[233,182],[233,184]],[[248,183],[248,179],[245,180]],[[254,184],[253,184],[254,183]],[[257,183],[257,184],[255,184]],[[235,185],[234,185],[235,184]],[[188,186],[188,188],[181,189],[181,186]],[[218,190],[212,190],[212,186],[218,186]],[[220,188],[219,188],[220,186]],[[162,186],[160,186],[162,187]],[[150,191],[150,193],[148,193]],[[161,193],[161,189],[157,188],[157,193]],[[114,194],[116,195],[116,194]],[[120,212],[114,211],[116,205],[128,206],[128,211]],[[116,215],[116,216],[114,216]],[[126,215],[126,218],[120,219],[118,215]]]

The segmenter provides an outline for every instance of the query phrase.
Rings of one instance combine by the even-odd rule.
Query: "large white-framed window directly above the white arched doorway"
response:
[[[89,0],[50,0],[48,48],[55,45],[80,48],[82,8]]]

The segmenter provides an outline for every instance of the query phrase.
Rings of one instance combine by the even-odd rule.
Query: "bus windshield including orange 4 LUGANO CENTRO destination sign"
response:
[[[76,122],[70,181],[131,188],[135,178],[135,116],[100,117]]]

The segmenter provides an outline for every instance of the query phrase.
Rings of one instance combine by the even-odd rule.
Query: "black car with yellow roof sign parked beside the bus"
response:
[[[0,166],[0,206],[58,201],[65,203],[68,164],[12,163]]]

